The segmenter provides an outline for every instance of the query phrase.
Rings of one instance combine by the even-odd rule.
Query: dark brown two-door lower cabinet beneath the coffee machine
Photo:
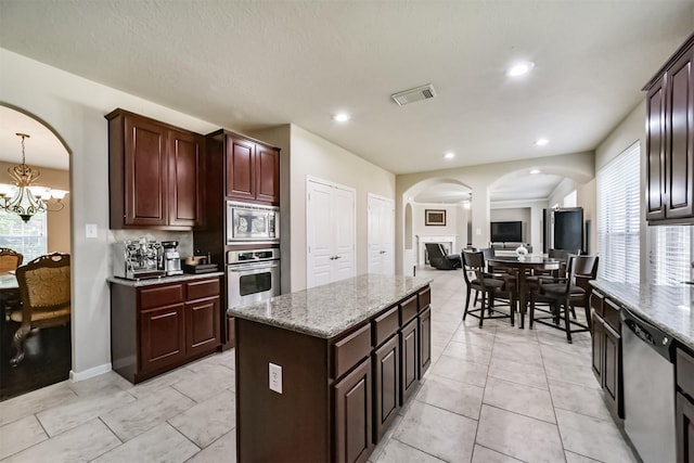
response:
[[[146,286],[112,283],[113,369],[131,383],[220,347],[219,278]]]

